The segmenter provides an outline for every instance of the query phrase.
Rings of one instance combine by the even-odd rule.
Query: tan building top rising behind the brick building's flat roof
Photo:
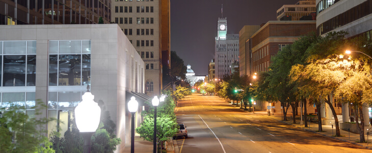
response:
[[[278,21],[315,20],[315,11],[315,0],[304,0],[294,5],[283,5],[276,11],[276,18]]]

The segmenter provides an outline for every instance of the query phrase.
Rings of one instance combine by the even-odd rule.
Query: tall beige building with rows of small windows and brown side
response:
[[[149,96],[160,94],[163,63],[170,66],[169,2],[169,0],[116,0],[111,5],[111,20],[119,24],[145,62],[145,92]],[[163,51],[168,55],[162,55]],[[162,63],[163,57],[168,60]]]

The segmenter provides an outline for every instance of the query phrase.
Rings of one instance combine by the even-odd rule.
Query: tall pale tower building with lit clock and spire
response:
[[[231,63],[239,60],[239,34],[227,34],[227,19],[218,18],[215,38],[216,78],[231,74]]]

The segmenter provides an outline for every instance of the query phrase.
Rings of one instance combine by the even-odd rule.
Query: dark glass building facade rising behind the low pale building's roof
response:
[[[110,23],[111,0],[0,0],[0,24]]]

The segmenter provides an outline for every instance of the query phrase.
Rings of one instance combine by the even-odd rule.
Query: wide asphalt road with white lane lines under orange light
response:
[[[372,152],[261,114],[234,108],[216,96],[193,94],[178,102],[177,122],[189,138],[177,138],[179,152]]]

